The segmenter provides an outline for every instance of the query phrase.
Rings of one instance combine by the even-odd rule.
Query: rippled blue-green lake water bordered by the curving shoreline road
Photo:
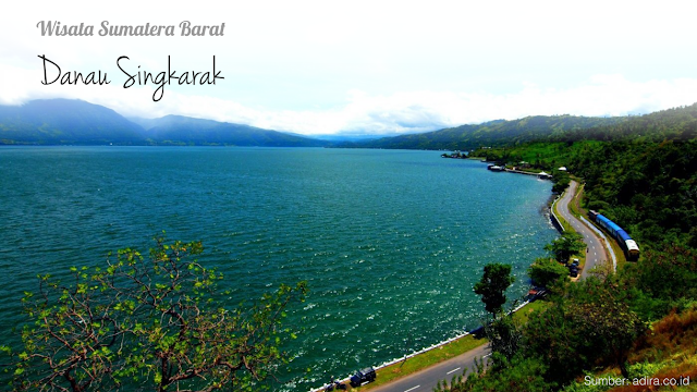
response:
[[[241,299],[308,281],[279,390],[379,365],[478,324],[472,291],[513,265],[509,297],[555,237],[551,184],[437,151],[205,147],[0,148],[0,336],[37,273],[147,249],[162,230]],[[309,369],[309,372],[307,372]]]

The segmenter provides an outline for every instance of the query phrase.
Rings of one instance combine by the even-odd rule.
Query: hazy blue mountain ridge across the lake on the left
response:
[[[0,106],[1,144],[322,147],[330,143],[182,115],[126,119],[83,100],[40,99]]]

